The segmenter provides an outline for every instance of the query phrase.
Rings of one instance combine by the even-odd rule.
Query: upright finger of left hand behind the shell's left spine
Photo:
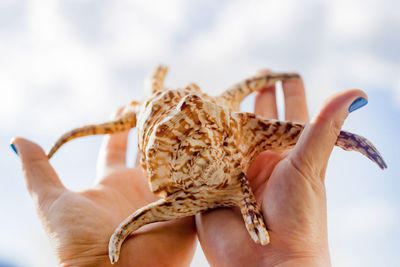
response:
[[[113,117],[118,117],[123,111],[120,108]],[[126,165],[126,149],[128,145],[129,131],[108,134],[104,137],[100,148],[97,170],[102,173],[110,167]]]

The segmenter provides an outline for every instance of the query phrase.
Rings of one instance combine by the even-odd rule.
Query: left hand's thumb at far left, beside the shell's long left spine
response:
[[[15,138],[11,144],[21,159],[28,191],[39,204],[66,190],[40,146],[23,138]]]

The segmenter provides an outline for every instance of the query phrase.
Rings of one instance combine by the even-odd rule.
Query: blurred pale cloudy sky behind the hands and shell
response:
[[[0,266],[57,264],[10,139],[48,150],[65,131],[142,99],[160,63],[170,67],[167,86],[196,82],[210,94],[261,68],[298,71],[311,114],[335,92],[365,90],[369,104],[344,129],[368,137],[389,168],[335,148],[326,179],[332,263],[399,266],[399,48],[395,0],[0,0]],[[93,184],[101,140],[72,141],[52,159],[67,187]],[[198,247],[192,266],[207,265]]]

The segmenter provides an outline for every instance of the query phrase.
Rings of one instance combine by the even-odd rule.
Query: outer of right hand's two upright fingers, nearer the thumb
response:
[[[285,97],[285,119],[288,121],[308,122],[308,108],[303,80],[289,79],[282,82]]]

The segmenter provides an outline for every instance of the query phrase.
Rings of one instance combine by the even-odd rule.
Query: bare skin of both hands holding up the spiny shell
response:
[[[265,72],[265,71],[264,71]],[[308,122],[301,79],[283,83],[286,120]],[[247,177],[267,223],[271,243],[255,244],[238,209],[217,209],[140,228],[125,241],[117,266],[188,266],[196,227],[212,266],[329,266],[327,162],[360,90],[331,97],[286,153],[263,152]],[[277,118],[275,88],[258,93],[255,113]],[[109,266],[108,241],[118,224],[157,199],[139,167],[126,167],[127,132],[106,136],[96,184],[82,192],[64,187],[35,143],[16,138],[29,193],[62,266]],[[155,256],[156,255],[156,256]]]

